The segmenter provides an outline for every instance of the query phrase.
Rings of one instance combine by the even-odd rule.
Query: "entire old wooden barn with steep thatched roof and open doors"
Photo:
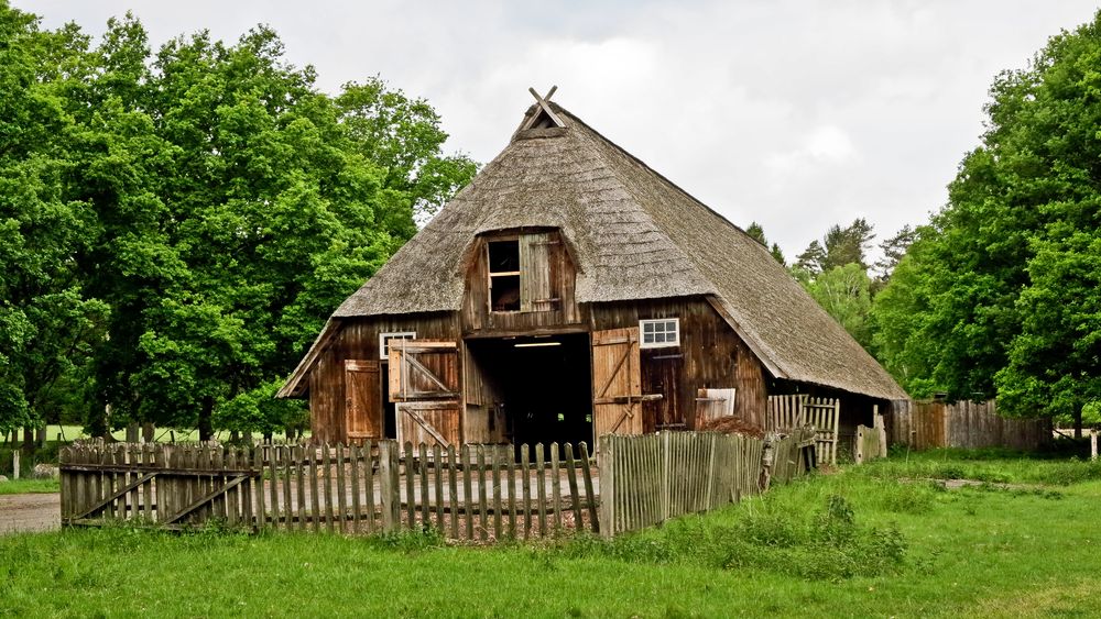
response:
[[[579,442],[905,394],[768,251],[534,90],[509,145],[327,321],[317,440]],[[552,90],[553,92],[553,90]]]

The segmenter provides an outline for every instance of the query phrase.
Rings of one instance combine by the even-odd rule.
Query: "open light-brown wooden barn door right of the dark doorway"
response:
[[[592,434],[642,434],[639,328],[592,333]]]

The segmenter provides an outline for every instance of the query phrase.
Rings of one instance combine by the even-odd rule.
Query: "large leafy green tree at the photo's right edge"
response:
[[[914,317],[884,346],[950,397],[1078,419],[1097,398],[1099,58],[1101,13],[995,79],[982,144],[876,299],[881,325]]]

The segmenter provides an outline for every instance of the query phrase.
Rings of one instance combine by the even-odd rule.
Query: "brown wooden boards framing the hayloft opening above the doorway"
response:
[[[462,332],[537,332],[554,331],[566,325],[584,324],[585,313],[574,295],[577,270],[560,236],[552,246],[548,259],[549,285],[559,299],[557,309],[545,311],[489,311],[489,275],[486,239],[479,239],[467,269],[466,294],[462,301]],[[492,237],[490,237],[492,240]]]

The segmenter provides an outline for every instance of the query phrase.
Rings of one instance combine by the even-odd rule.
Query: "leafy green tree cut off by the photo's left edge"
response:
[[[103,303],[76,259],[96,220],[70,180],[87,38],[0,3],[0,431],[59,421],[80,400]]]

